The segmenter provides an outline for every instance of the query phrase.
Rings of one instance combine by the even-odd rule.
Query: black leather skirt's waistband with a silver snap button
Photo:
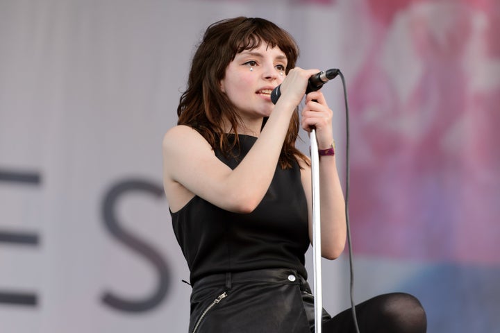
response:
[[[227,272],[208,275],[193,284],[193,289],[225,286],[231,289],[233,284],[266,282],[279,284],[307,284],[306,279],[290,268],[265,268],[255,271]]]

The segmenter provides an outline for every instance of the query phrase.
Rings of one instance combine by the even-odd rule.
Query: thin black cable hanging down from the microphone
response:
[[[349,137],[349,104],[347,103],[347,88],[345,84],[344,75],[341,71],[338,71],[340,78],[342,79],[342,87],[344,88],[344,103],[346,111],[346,184],[345,184],[345,214],[346,214],[346,226],[347,226],[347,246],[349,248],[349,271],[351,275],[350,281],[350,298],[351,298],[351,311],[354,321],[354,327],[356,332],[360,333],[358,327],[358,318],[356,317],[356,305],[354,304],[354,268],[353,268],[353,253],[352,253],[352,241],[351,241],[351,226],[349,223],[349,182],[351,178],[351,172],[349,170],[349,148],[350,148],[350,137]]]

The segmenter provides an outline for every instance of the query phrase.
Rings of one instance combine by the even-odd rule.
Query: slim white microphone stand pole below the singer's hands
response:
[[[319,154],[316,130],[310,133],[310,155],[313,183],[313,253],[314,253],[314,298],[315,298],[315,333],[322,332],[322,269],[321,269],[321,219],[319,213]]]

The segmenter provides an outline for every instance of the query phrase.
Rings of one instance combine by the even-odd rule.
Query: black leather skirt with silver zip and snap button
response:
[[[323,310],[323,321],[330,319]],[[287,268],[210,275],[193,286],[189,333],[314,332],[309,284]]]

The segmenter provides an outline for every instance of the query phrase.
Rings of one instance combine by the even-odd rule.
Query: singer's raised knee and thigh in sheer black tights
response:
[[[360,333],[425,333],[427,320],[417,298],[408,293],[387,293],[356,305]],[[314,332],[314,331],[313,331]],[[323,323],[325,333],[355,333],[352,310]]]

